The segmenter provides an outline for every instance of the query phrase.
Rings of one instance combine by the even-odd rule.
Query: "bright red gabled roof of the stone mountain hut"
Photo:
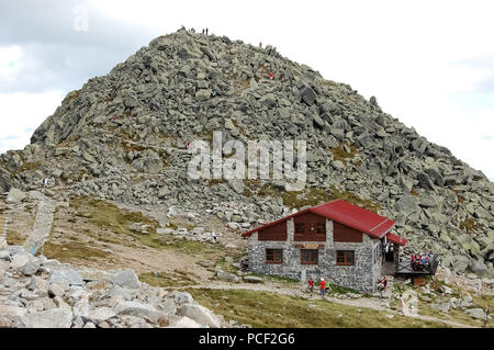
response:
[[[257,227],[242,235],[244,237],[250,236],[252,233],[259,229],[272,226],[274,224],[287,221],[289,218],[292,218],[293,216],[297,216],[306,212],[324,216],[328,219],[338,222],[345,226],[363,232],[375,238],[382,238],[394,226],[394,221],[392,221],[391,218],[369,212],[360,206],[345,202],[344,200],[336,200],[333,202],[306,208],[304,211],[300,211],[295,214],[285,216],[276,222]]]

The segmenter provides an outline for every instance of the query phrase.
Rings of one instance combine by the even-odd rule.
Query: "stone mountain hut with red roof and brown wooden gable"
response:
[[[243,234],[248,269],[373,292],[385,261],[394,267],[406,244],[390,233],[393,227],[391,218],[343,200],[308,207]]]

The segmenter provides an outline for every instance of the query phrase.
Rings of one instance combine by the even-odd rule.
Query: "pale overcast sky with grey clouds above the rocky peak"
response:
[[[159,35],[209,27],[349,83],[494,180],[493,1],[0,0],[0,153]]]

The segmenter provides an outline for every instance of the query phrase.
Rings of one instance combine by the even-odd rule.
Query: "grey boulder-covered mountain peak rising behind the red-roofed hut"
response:
[[[190,140],[307,143],[307,184],[187,178]],[[44,177],[64,195],[212,210],[235,203],[248,225],[335,197],[396,221],[411,250],[493,273],[494,187],[346,83],[266,48],[181,30],[67,94],[31,145],[0,157],[0,190]],[[247,208],[248,207],[248,208]]]

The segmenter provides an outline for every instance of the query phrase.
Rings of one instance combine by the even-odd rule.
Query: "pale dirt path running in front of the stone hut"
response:
[[[268,293],[277,293],[282,295],[290,295],[290,296],[300,296],[306,300],[321,300],[321,296],[314,292],[313,295],[307,294],[307,292],[303,291],[302,289],[293,290],[293,289],[285,289],[280,287],[276,285],[266,285],[266,284],[245,284],[245,283],[209,283],[209,284],[197,284],[197,285],[189,285],[189,286],[182,286],[182,287],[172,287],[173,290],[177,289],[211,289],[211,290],[249,290],[249,291],[256,291],[256,292],[268,292]],[[398,311],[394,311],[389,308],[389,301],[385,298],[383,300],[374,300],[374,298],[368,298],[368,297],[360,297],[360,298],[352,298],[352,300],[343,300],[334,296],[325,297],[326,301],[348,306],[355,306],[355,307],[367,307],[380,312],[386,312],[394,315],[403,315],[403,313]],[[408,317],[423,319],[423,320],[429,320],[429,321],[437,321],[446,324],[450,327],[454,328],[474,328],[473,326],[456,323],[452,320],[436,318],[431,316],[423,316],[423,315],[411,315]]]

